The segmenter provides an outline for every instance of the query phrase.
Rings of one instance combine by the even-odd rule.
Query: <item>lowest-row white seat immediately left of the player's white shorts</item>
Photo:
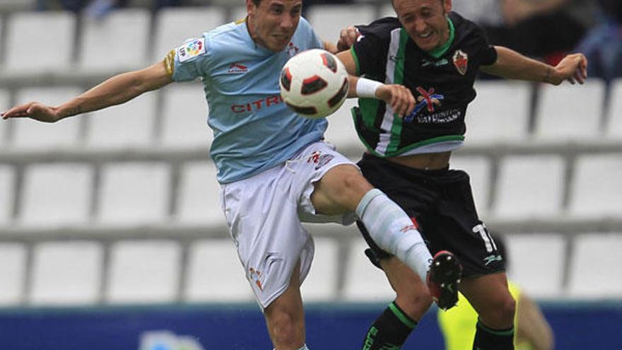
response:
[[[230,239],[201,240],[192,244],[186,271],[184,301],[252,301],[244,267]]]

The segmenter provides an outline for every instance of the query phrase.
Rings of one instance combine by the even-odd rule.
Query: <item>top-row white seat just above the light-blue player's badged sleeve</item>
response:
[[[216,6],[162,8],[155,16],[153,62],[163,59],[184,40],[199,37],[225,22],[224,11]]]

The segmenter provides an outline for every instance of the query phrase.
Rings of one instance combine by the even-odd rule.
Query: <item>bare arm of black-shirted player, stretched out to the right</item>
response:
[[[570,83],[584,83],[587,78],[587,59],[583,54],[569,54],[557,66],[525,57],[507,47],[495,47],[498,58],[490,66],[481,66],[481,71],[508,79],[541,81],[559,85],[567,80]]]

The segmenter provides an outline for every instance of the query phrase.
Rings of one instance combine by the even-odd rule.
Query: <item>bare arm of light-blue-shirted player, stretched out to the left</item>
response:
[[[40,122],[57,122],[73,115],[125,103],[141,93],[161,88],[170,82],[165,65],[158,62],[145,69],[113,76],[57,107],[29,102],[3,112],[1,116],[2,119],[27,117]]]

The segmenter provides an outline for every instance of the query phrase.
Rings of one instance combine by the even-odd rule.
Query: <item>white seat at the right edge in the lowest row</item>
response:
[[[585,234],[575,238],[568,296],[619,298],[622,295],[622,232]]]

